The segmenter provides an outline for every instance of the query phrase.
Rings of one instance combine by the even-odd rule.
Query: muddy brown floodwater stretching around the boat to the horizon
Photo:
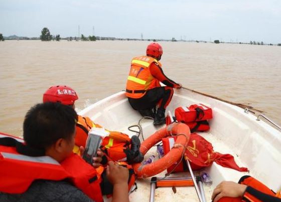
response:
[[[28,109],[52,85],[76,90],[77,110],[125,88],[147,41],[0,42],[0,131],[21,135]],[[281,125],[281,47],[161,42],[163,70],[184,87],[265,111]]]

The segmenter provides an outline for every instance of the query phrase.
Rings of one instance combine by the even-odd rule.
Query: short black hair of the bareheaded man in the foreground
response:
[[[77,114],[61,103],[46,102],[33,106],[24,120],[24,140],[32,148],[46,149],[58,139],[70,139]]]

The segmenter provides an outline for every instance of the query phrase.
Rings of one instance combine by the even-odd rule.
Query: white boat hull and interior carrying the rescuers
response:
[[[239,172],[222,167],[215,162],[206,170],[213,179],[212,186],[204,185],[206,201],[211,201],[214,187],[222,180],[238,181],[243,175],[251,175],[277,191],[281,187],[281,132],[267,121],[257,120],[252,113],[235,105],[200,95],[185,89],[176,90],[167,111],[174,112],[179,106],[202,103],[213,110],[213,119],[209,121],[210,130],[199,132],[212,143],[214,150],[232,154],[240,167],[247,167],[249,172]],[[167,112],[166,111],[166,112]],[[109,130],[135,135],[128,126],[136,125],[141,115],[133,110],[124,92],[111,95],[79,112],[90,117],[95,123]],[[152,120],[142,121],[144,138],[149,137],[160,127],[155,127]],[[164,126],[162,126],[164,127]],[[142,138],[140,138],[142,141]],[[156,152],[151,150],[147,155]],[[163,176],[160,173],[159,176]],[[173,175],[173,174],[172,174]],[[188,175],[188,173],[178,173]],[[137,190],[129,195],[130,201],[149,201],[150,179],[138,179]],[[155,201],[199,201],[194,187],[177,187],[174,193],[170,187],[160,187],[155,191]]]

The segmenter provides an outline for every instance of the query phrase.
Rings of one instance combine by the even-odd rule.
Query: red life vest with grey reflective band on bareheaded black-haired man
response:
[[[50,156],[32,157],[17,152],[15,146],[4,146],[3,140],[12,136],[0,135],[0,191],[24,193],[36,179],[59,181],[69,179],[88,197],[103,201],[99,183],[100,174],[80,156],[72,153],[61,163]],[[12,137],[19,142],[22,139]],[[13,139],[12,139],[13,140]]]

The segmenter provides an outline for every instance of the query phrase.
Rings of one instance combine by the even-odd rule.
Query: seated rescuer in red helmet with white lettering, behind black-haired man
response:
[[[75,109],[75,101],[78,100],[77,93],[70,87],[65,85],[51,86],[43,95],[43,102],[60,102]],[[94,123],[89,117],[78,115],[76,123],[76,136],[73,152],[80,153],[80,147],[85,147],[88,132],[91,128],[102,126]],[[141,142],[138,137],[133,135],[129,138],[126,134],[108,131],[109,137],[104,138],[101,148],[112,160],[126,159],[128,163],[141,162],[144,159],[143,154],[139,151]],[[122,139],[122,141],[120,140]],[[98,151],[101,154],[101,151]],[[103,156],[102,164],[107,159]]]

